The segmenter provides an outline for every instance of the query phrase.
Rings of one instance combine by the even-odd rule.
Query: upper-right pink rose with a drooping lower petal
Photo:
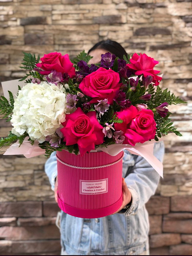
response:
[[[155,85],[159,85],[159,81],[161,81],[162,78],[156,74],[158,74],[160,71],[153,69],[154,66],[159,63],[158,61],[148,57],[145,53],[140,53],[140,56],[134,53],[130,59],[130,62],[131,64],[127,64],[127,66],[131,69],[137,70],[135,75],[139,76],[143,74],[145,78],[147,76],[152,76],[153,83],[155,83]]]

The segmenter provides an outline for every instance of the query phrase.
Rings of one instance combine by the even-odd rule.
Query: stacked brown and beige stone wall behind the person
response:
[[[167,136],[164,178],[147,203],[152,255],[192,253],[191,0],[0,0],[1,80],[24,75],[22,51],[74,57],[110,38],[159,61],[162,88],[188,102],[171,106],[182,137]],[[2,93],[2,91],[1,91]],[[0,136],[10,124],[0,121]],[[57,255],[57,204],[43,156],[0,155],[0,253]]]

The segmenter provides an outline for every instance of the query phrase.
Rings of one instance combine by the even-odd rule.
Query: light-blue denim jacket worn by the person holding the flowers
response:
[[[163,142],[154,144],[154,155],[162,162]],[[57,162],[52,153],[45,172],[54,190]],[[148,250],[149,221],[145,204],[154,195],[159,174],[142,157],[124,150],[123,177],[132,195],[124,214],[83,219],[61,211],[61,246],[68,255],[140,255]]]

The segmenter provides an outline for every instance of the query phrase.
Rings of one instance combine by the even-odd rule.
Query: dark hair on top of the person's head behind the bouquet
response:
[[[107,40],[102,40],[100,42],[98,42],[97,44],[95,44],[88,52],[88,55],[91,51],[95,50],[95,49],[104,49],[107,52],[110,52],[112,54],[114,54],[116,57],[118,57],[119,59],[123,60],[123,55],[125,55],[127,57],[127,52],[125,51],[125,49],[123,48],[123,46],[121,46],[119,43],[117,43],[116,41],[112,41],[110,39]]]

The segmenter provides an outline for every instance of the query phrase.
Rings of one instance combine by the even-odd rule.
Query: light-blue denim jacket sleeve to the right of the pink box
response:
[[[164,144],[158,142],[154,144],[153,154],[159,161],[163,161]],[[125,215],[134,215],[139,208],[154,195],[159,182],[159,174],[153,167],[143,158],[138,156],[135,165],[129,167],[128,175],[125,178],[127,187],[132,195],[131,207],[125,212]]]

